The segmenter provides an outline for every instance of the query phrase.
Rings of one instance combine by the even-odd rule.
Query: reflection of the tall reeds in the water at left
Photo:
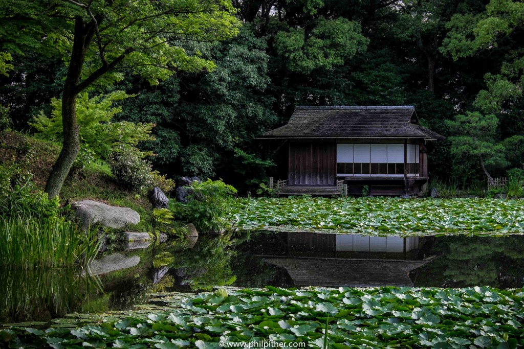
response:
[[[0,270],[0,322],[49,321],[101,296],[96,276],[78,269]]]

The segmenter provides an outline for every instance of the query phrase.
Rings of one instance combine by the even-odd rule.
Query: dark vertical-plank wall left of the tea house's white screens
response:
[[[290,142],[289,185],[335,185],[334,142]]]

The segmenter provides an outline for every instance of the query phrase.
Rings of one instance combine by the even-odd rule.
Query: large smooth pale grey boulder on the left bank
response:
[[[95,223],[100,223],[104,227],[122,229],[127,224],[137,224],[140,221],[138,212],[127,207],[110,206],[93,200],[73,202],[71,206],[82,222],[84,231]]]

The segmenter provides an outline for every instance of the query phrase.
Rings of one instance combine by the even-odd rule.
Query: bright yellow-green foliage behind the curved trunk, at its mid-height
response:
[[[80,138],[83,143],[79,156],[95,153],[102,159],[108,159],[110,154],[122,147],[136,147],[139,142],[153,140],[150,136],[152,123],[134,123],[128,121],[113,121],[122,107],[114,107],[116,102],[133,97],[124,91],[115,91],[107,95],[89,98],[87,93],[80,94],[77,99],[77,121],[80,127]],[[38,130],[46,139],[62,139],[62,101],[51,99],[53,108],[51,117],[40,112],[34,122],[29,125]],[[91,155],[92,156],[92,155]],[[77,159],[77,161],[82,161]]]

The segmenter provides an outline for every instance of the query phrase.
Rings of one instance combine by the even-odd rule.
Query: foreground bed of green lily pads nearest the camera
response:
[[[75,330],[3,330],[8,347],[219,348],[220,342],[303,347],[515,348],[524,340],[524,292],[488,287],[244,289],[187,299],[148,319]],[[327,322],[327,324],[326,324]],[[327,330],[327,331],[326,331]],[[222,344],[223,347],[224,344]]]

